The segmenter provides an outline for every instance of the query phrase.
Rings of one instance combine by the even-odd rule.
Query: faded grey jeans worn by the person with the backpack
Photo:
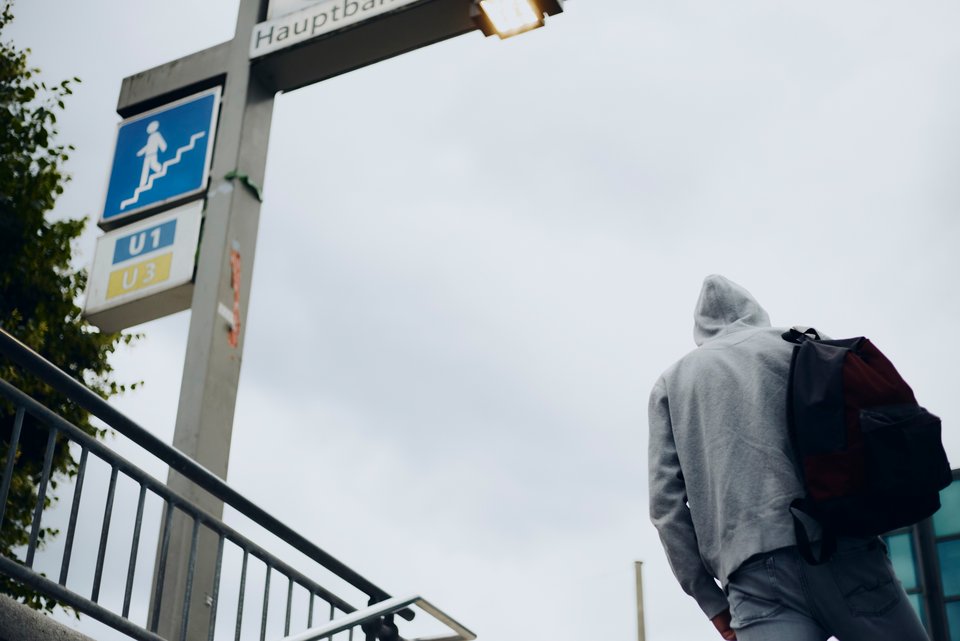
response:
[[[795,547],[759,555],[727,596],[738,641],[928,641],[879,539],[841,539],[822,565]]]

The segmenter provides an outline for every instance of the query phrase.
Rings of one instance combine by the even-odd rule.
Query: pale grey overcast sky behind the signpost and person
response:
[[[97,217],[123,77],[236,0],[19,0]],[[278,98],[229,483],[488,641],[719,638],[647,519],[646,402],[706,274],[867,335],[960,465],[960,5],[571,0]],[[79,246],[92,259],[99,232]],[[119,354],[171,440],[188,312]],[[156,472],[164,475],[161,469]]]

